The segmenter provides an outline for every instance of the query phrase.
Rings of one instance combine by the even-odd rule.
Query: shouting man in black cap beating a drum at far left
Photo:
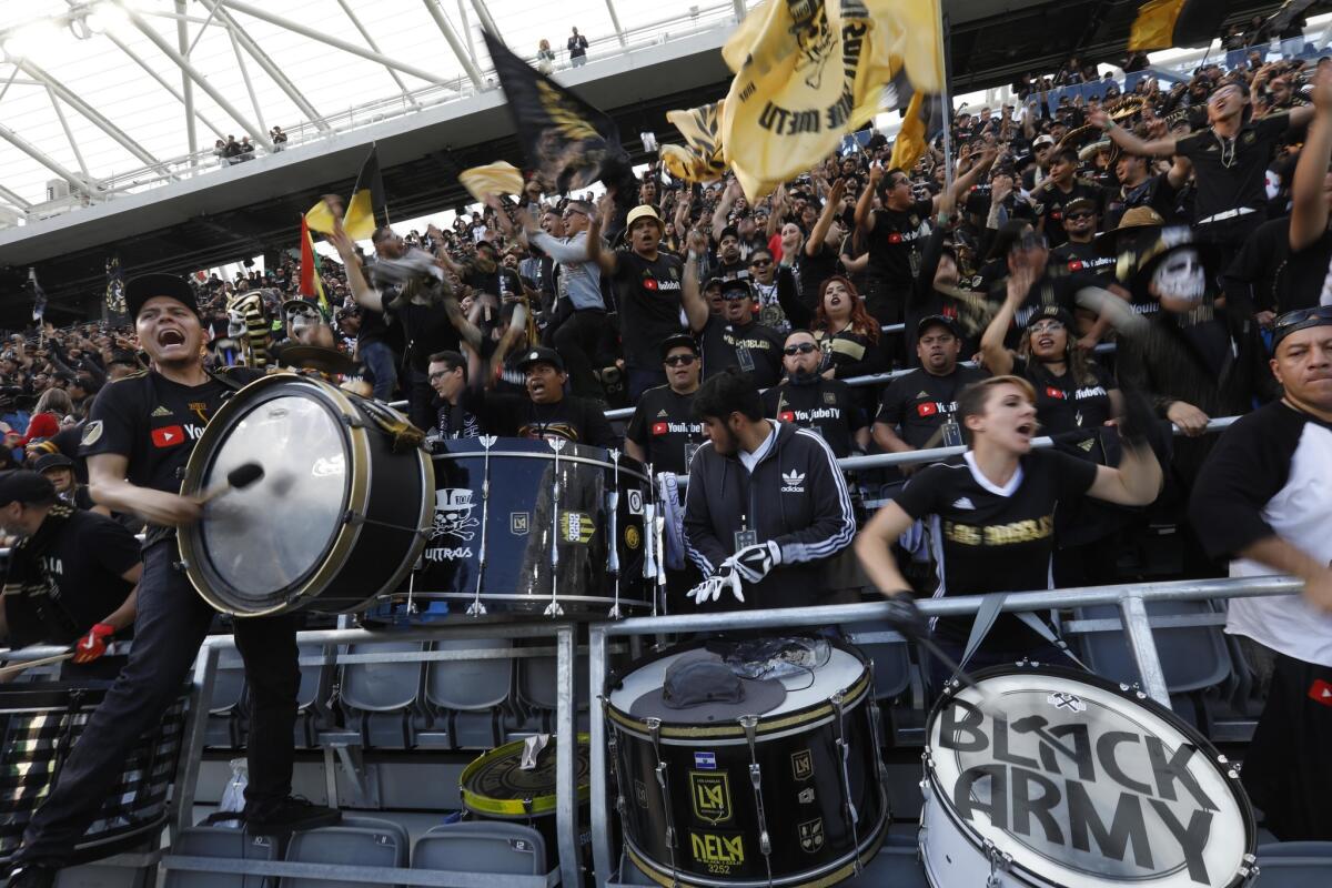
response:
[[[28,824],[9,885],[55,884],[68,849],[120,779],[131,748],[178,698],[214,615],[180,566],[174,529],[205,517],[197,501],[178,495],[180,471],[224,397],[260,374],[205,370],[204,328],[184,278],[136,277],[125,285],[125,301],[153,369],[103,389],[81,447],[93,499],[153,525],[144,542],[135,646],[88,720],[87,742],[75,746]],[[337,811],[290,797],[301,678],[294,616],[248,618],[237,620],[234,631],[252,699],[249,785],[240,819],[256,835],[337,823]]]

